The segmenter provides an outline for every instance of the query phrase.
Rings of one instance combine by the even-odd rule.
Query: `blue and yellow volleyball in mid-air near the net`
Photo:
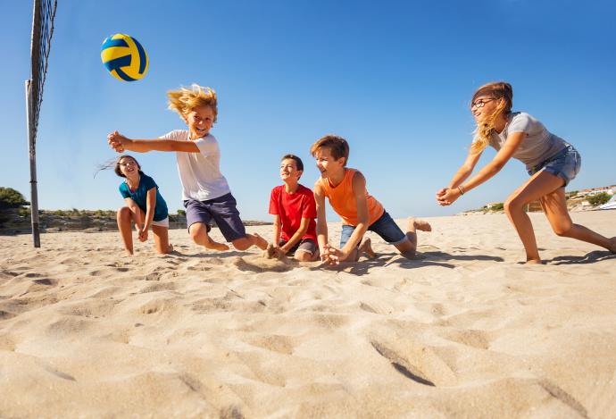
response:
[[[147,72],[146,50],[137,39],[123,33],[105,38],[101,46],[101,60],[112,76],[119,80],[139,80]]]

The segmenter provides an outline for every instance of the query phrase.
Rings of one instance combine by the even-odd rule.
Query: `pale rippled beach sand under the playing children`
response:
[[[531,219],[544,265],[504,214],[336,268],[186,230],[133,258],[117,232],[0,237],[0,417],[615,417],[616,256]]]

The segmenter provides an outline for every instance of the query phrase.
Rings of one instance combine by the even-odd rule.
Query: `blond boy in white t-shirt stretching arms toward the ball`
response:
[[[129,139],[114,131],[107,136],[109,145],[117,152],[176,152],[188,232],[196,244],[215,250],[229,249],[209,237],[213,219],[224,238],[237,250],[251,246],[264,250],[267,247],[265,239],[246,233],[236,199],[221,173],[221,151],[218,141],[210,134],[218,115],[216,92],[194,84],[192,88],[172,90],[167,96],[170,109],[179,113],[188,130],[173,130],[156,139]]]

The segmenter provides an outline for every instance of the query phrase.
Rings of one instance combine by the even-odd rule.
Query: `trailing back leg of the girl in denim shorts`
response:
[[[556,189],[539,200],[544,209],[545,216],[547,216],[547,220],[552,226],[552,230],[557,235],[586,241],[616,253],[616,237],[608,239],[593,230],[587,229],[583,225],[574,224],[571,221],[569,211],[567,210],[564,188]]]

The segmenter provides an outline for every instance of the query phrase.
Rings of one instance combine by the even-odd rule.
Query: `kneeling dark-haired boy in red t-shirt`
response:
[[[294,254],[300,262],[319,259],[317,246],[316,205],[312,190],[299,184],[304,163],[296,155],[280,161],[280,179],[284,185],[271,189],[270,214],[274,215],[274,243],[268,254],[281,257]]]

